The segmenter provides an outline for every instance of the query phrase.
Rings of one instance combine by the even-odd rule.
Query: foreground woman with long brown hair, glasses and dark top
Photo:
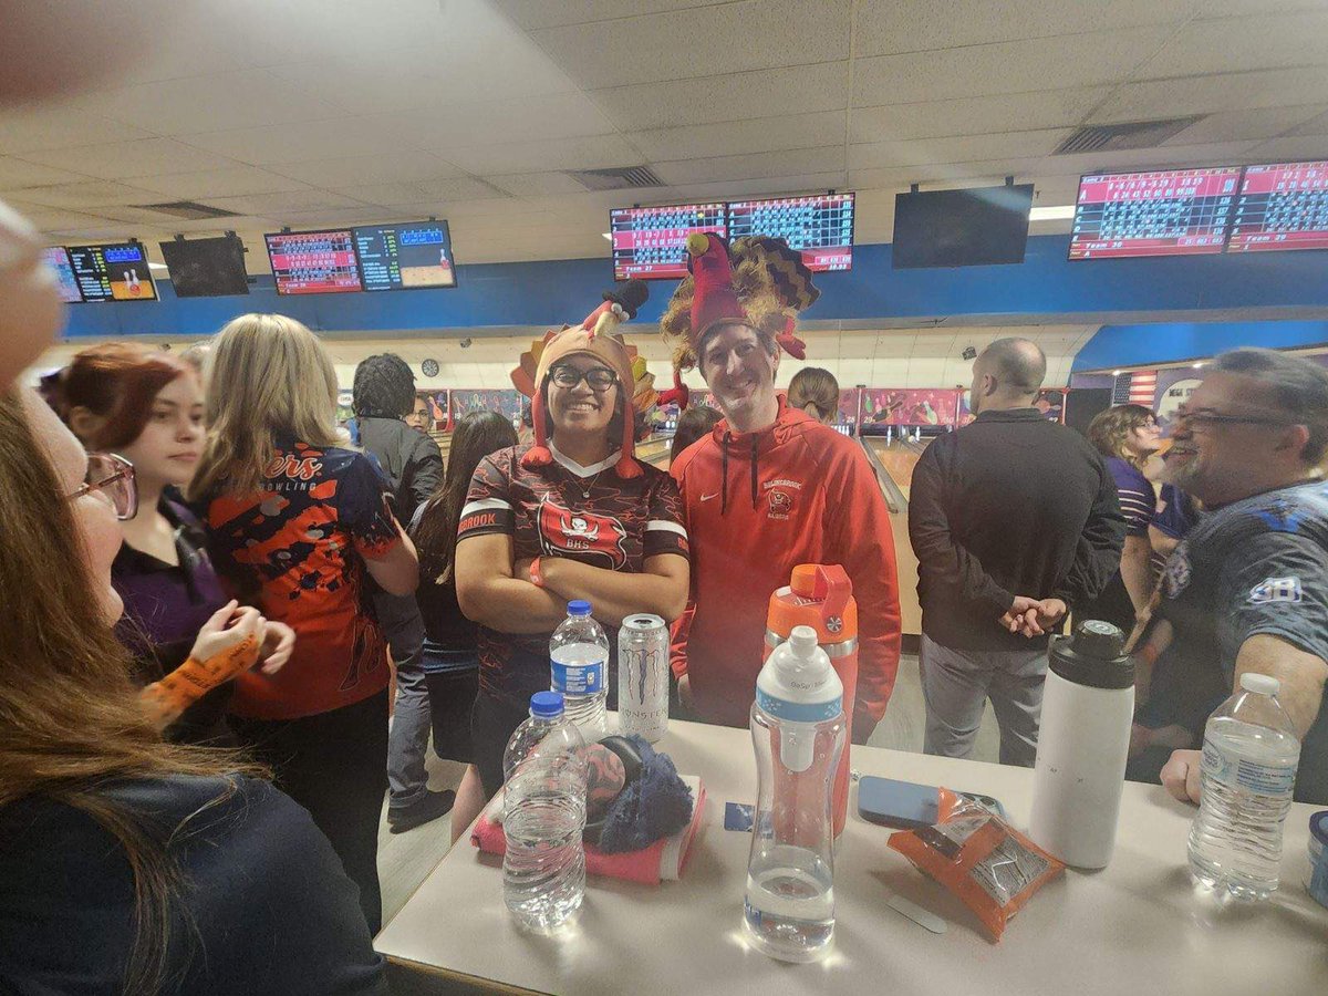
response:
[[[145,712],[112,632],[131,485],[0,394],[0,989],[385,992],[308,814]]]

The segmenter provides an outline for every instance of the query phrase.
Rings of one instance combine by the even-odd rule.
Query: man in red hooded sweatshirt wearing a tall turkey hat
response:
[[[886,712],[899,669],[899,586],[884,498],[861,448],[776,394],[780,352],[803,359],[793,316],[819,296],[777,239],[688,239],[688,268],[661,328],[680,371],[699,367],[724,421],[672,465],[692,538],[695,615],[673,668],[684,701],[742,726],[761,671],[770,594],[801,563],[841,564],[858,600],[853,740]],[[849,705],[853,689],[845,689]]]

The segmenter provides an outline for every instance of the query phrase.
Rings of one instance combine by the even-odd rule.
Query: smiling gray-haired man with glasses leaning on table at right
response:
[[[1139,640],[1130,776],[1198,801],[1208,714],[1255,672],[1278,679],[1301,738],[1295,798],[1328,803],[1328,371],[1236,349],[1204,373],[1166,461],[1206,511]]]

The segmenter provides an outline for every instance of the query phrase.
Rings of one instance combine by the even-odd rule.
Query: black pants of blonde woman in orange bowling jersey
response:
[[[382,926],[378,821],[388,790],[388,689],[299,720],[231,718],[240,742],[276,786],[313,817],[360,887],[369,934]]]

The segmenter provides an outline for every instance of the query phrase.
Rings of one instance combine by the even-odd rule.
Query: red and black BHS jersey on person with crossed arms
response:
[[[513,538],[517,560],[567,556],[636,574],[648,556],[688,555],[683,499],[663,470],[641,463],[644,475],[624,481],[614,471],[616,453],[583,467],[554,446],[552,463],[527,470],[521,458],[529,449],[511,446],[479,462],[461,513],[458,542],[502,533]],[[612,628],[606,629],[612,640]],[[526,708],[531,693],[548,688],[551,635],[503,633],[481,625],[479,687]],[[615,660],[616,655],[610,657],[611,665]]]

